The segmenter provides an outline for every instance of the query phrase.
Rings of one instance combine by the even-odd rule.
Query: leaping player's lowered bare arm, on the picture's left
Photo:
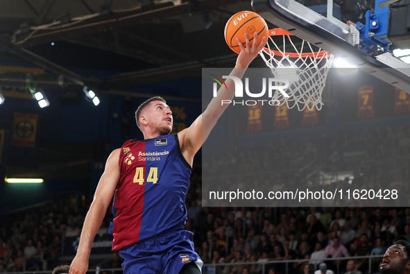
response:
[[[103,222],[108,205],[110,205],[119,181],[120,151],[119,148],[114,150],[105,164],[105,170],[94,194],[94,200],[85,217],[77,254],[76,257],[74,257],[73,262],[71,262],[69,274],[83,274],[87,272],[89,252],[91,251],[92,242],[94,241],[96,232],[99,230],[101,223]]]

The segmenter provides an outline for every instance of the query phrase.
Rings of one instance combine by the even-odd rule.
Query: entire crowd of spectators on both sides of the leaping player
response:
[[[260,160],[264,165],[272,164],[273,171],[280,171],[285,167],[299,169],[316,159],[315,168],[330,163],[332,169],[352,170],[354,178],[349,179],[350,183],[359,187],[371,187],[377,181],[410,185],[409,144],[410,128],[375,128],[371,134],[363,130],[332,138],[305,139],[300,144],[282,140],[266,150],[272,153],[274,165]],[[352,163],[345,155],[355,151],[361,153],[358,162]],[[238,173],[253,174],[258,164],[248,163],[245,168],[242,163],[253,153],[257,153],[255,144],[248,151],[231,151],[227,154],[229,161],[203,164],[218,166],[214,169],[216,174],[224,174],[224,164],[244,166]],[[295,178],[282,176],[273,183],[286,183],[284,180]],[[252,264],[256,262],[276,262],[268,264],[265,273],[314,273],[321,270],[319,266],[327,257],[380,255],[395,240],[410,240],[410,207],[202,207],[201,189],[197,163],[187,196],[185,227],[195,234],[198,254],[205,264],[243,263],[207,268],[208,273],[262,273],[262,264]],[[91,200],[92,194],[71,195],[66,200],[8,216],[6,230],[0,234],[0,273],[52,269],[60,264],[61,241],[80,234]],[[110,219],[109,208],[103,227]],[[280,263],[289,259],[306,261]],[[353,259],[349,263],[325,263],[326,271],[354,274],[368,272],[367,262]],[[378,264],[379,259],[373,259],[371,273],[377,273]],[[119,267],[120,260],[114,260],[112,266]]]

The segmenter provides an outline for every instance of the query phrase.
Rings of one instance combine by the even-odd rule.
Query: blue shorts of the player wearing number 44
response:
[[[184,264],[195,262],[202,271],[203,262],[194,251],[194,234],[187,230],[139,241],[119,250],[123,273],[178,274]]]

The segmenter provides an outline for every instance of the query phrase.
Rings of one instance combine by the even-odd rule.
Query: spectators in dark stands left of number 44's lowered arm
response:
[[[0,234],[0,273],[53,269],[62,255],[62,238],[80,234],[87,212],[78,195],[9,214]]]

